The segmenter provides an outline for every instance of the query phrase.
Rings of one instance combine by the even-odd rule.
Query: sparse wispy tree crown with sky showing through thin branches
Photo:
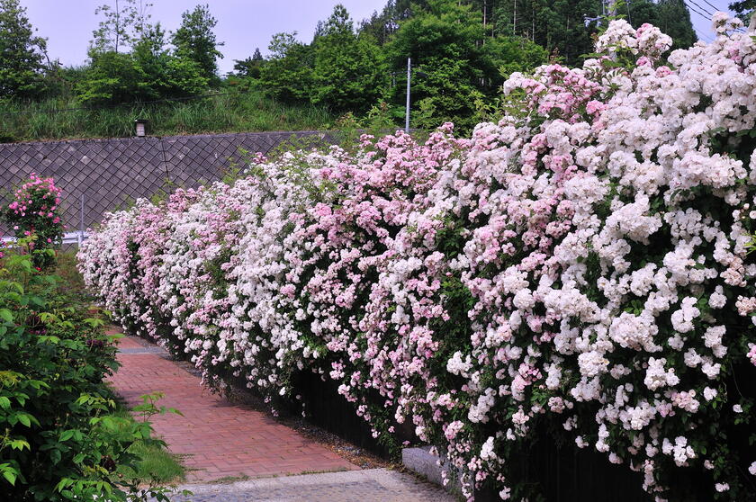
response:
[[[121,52],[134,40],[139,40],[149,21],[152,4],[144,0],[112,0],[94,10],[103,17],[92,31],[90,51]]]

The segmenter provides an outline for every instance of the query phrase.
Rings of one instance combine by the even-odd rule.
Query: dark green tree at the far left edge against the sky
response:
[[[0,0],[0,98],[40,94],[46,49],[19,0]]]

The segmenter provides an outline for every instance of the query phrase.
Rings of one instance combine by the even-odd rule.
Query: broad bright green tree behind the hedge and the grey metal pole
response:
[[[413,123],[421,127],[453,121],[463,131],[472,129],[480,119],[478,103],[498,96],[504,75],[546,60],[545,50],[524,38],[491,37],[473,4],[428,0],[425,8],[413,8],[387,47],[396,73],[403,75],[408,57],[419,67],[412,106],[419,110]],[[394,87],[395,103],[404,96],[401,80]]]

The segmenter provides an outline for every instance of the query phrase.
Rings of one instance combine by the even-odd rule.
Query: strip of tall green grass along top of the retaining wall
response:
[[[337,117],[311,104],[287,105],[263,94],[227,94],[200,100],[65,111],[80,105],[52,98],[0,103],[0,142],[40,139],[125,138],[134,119],[149,121],[149,134],[170,136],[265,130],[322,130]]]

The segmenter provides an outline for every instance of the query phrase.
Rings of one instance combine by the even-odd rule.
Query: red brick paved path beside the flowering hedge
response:
[[[131,337],[119,345],[144,347]],[[184,414],[152,421],[171,452],[186,455],[189,481],[359,469],[266,414],[211,394],[198,377],[158,354],[118,354],[118,359],[121,369],[110,380],[127,403],[139,404],[139,396],[160,391],[166,394],[160,406]]]

